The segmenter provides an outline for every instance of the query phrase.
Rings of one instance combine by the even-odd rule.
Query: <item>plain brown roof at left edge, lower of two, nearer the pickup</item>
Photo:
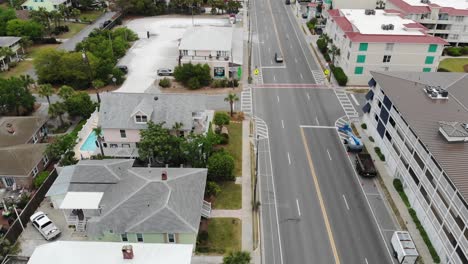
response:
[[[0,176],[29,176],[42,160],[47,144],[22,144],[0,148]]]

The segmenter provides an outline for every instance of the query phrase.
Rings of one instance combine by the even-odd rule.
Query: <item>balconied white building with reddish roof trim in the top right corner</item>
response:
[[[468,43],[468,2],[466,0],[388,0],[387,8],[401,11],[405,18],[425,26],[428,34],[450,44]]]

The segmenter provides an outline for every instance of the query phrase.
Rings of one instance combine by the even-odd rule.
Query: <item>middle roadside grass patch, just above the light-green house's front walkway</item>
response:
[[[218,183],[221,192],[216,196],[213,209],[241,209],[242,208],[242,187],[234,182]]]

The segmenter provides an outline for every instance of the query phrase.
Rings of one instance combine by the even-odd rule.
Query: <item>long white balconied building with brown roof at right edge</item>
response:
[[[468,263],[468,74],[371,74],[369,135],[441,263]]]

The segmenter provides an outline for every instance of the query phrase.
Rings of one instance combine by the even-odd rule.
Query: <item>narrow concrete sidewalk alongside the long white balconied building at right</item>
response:
[[[411,218],[408,212],[408,208],[406,207],[405,203],[401,199],[400,194],[398,194],[398,192],[395,190],[395,187],[393,187],[394,177],[391,175],[390,169],[388,168],[385,162],[380,160],[380,158],[377,156],[377,154],[374,151],[374,147],[376,147],[377,145],[369,140],[369,137],[366,131],[363,130],[359,124],[356,124],[356,129],[361,135],[361,139],[364,142],[364,145],[366,146],[367,151],[372,156],[374,165],[377,168],[379,175],[382,178],[386,189],[388,190],[388,193],[390,194],[390,197],[387,196],[386,199],[393,200],[393,203],[395,204],[398,210],[398,213],[400,214],[401,220],[403,220],[404,224],[406,225],[406,229],[408,230],[408,232],[411,233],[411,237],[413,238],[413,241],[416,244],[416,248],[418,249],[420,259],[422,259],[423,263],[433,263],[432,256],[429,253],[426,243],[421,237],[419,230],[416,228],[416,225],[414,224],[413,219]],[[391,212],[391,213],[395,215],[395,212]],[[404,227],[402,227],[402,229],[404,229]]]

